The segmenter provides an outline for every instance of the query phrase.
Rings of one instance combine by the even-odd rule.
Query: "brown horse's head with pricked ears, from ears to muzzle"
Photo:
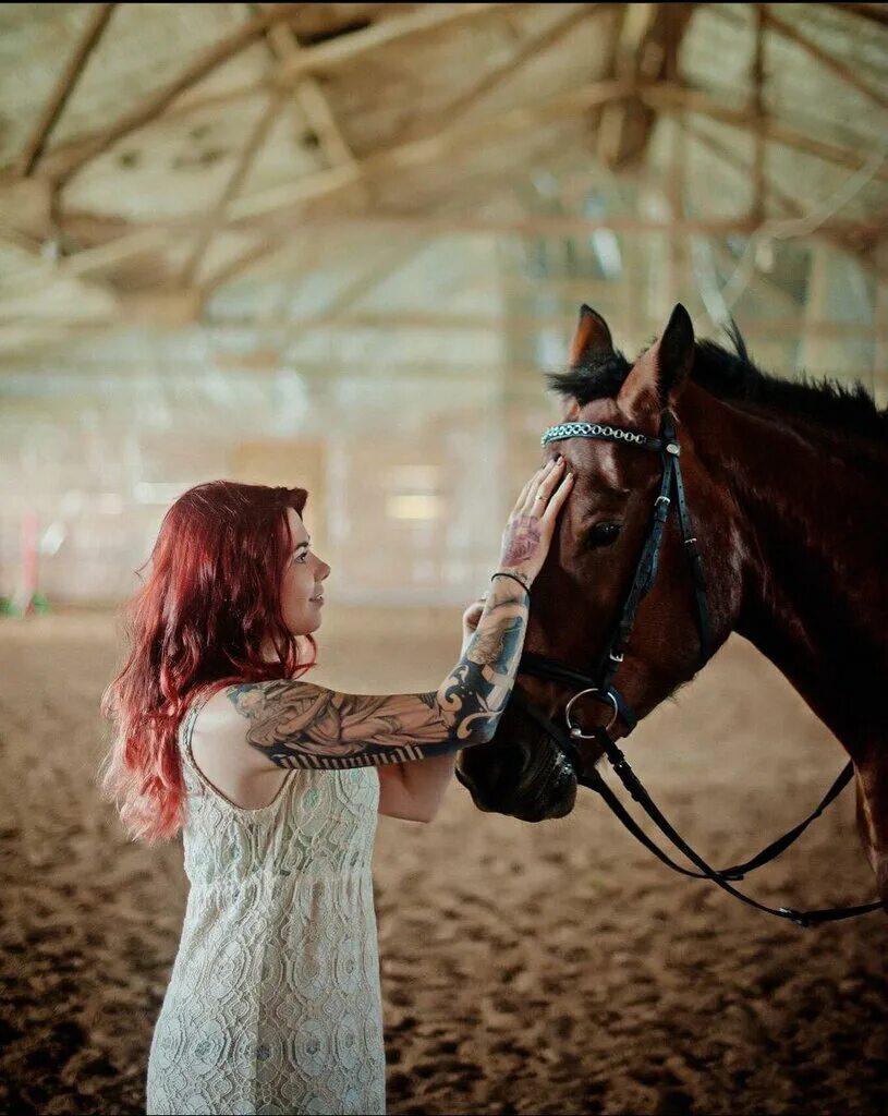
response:
[[[551,377],[564,410],[546,445],[548,455],[567,458],[576,482],[533,584],[520,696],[510,702],[491,744],[465,750],[457,764],[481,809],[528,821],[569,814],[576,763],[566,760],[550,729],[552,721],[564,727],[570,700],[577,698],[568,727],[582,738],[605,723],[611,735],[622,735],[689,681],[731,629],[743,584],[737,512],[695,452],[695,432],[704,431],[711,442],[717,430],[706,425],[711,397],[691,383],[694,356],[694,330],[682,306],[635,364],[615,349],[600,315],[587,306],[580,311],[569,371]],[[695,542],[686,542],[674,488],[664,490],[669,453],[681,460]],[[662,536],[651,557],[658,509]],[[688,548],[698,548],[711,575],[703,620]],[[650,568],[643,569],[644,562]],[[634,595],[630,634],[622,632],[621,638]],[[705,648],[702,624],[708,628]],[[619,652],[608,662],[615,647]],[[588,682],[556,680],[551,672],[541,677],[530,673],[530,661],[566,665]],[[598,693],[588,692],[605,677]],[[606,693],[611,684],[612,698]],[[576,743],[587,769],[600,758],[591,740]]]

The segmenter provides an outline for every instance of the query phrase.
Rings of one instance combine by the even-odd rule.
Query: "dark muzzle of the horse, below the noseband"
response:
[[[491,743],[461,752],[456,777],[480,810],[522,821],[562,818],[577,801],[577,775],[547,734],[532,744]]]

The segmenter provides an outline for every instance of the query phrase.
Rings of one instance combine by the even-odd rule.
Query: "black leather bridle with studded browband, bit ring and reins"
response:
[[[659,453],[663,461],[663,477],[660,480],[659,494],[654,502],[654,516],[650,531],[641,549],[641,556],[635,569],[629,590],[620,613],[619,619],[605,645],[605,650],[599,657],[591,673],[578,671],[576,667],[542,655],[525,653],[521,657],[519,674],[529,674],[539,679],[547,679],[552,682],[560,682],[567,686],[579,687],[578,692],[570,699],[564,709],[564,721],[568,732],[548,718],[541,709],[534,705],[527,693],[519,686],[513,692],[513,701],[534,720],[552,739],[556,744],[561,764],[562,773],[570,773],[580,786],[588,787],[599,793],[616,817],[624,826],[645,845],[655,856],[675,872],[685,876],[694,876],[698,879],[710,879],[718,887],[741,899],[743,903],[763,911],[766,914],[775,915],[780,918],[788,918],[798,926],[815,926],[826,922],[836,922],[842,918],[852,918],[857,915],[868,914],[871,911],[884,910],[881,903],[867,903],[853,907],[830,907],[821,911],[797,911],[792,907],[770,907],[756,899],[744,895],[733,886],[733,882],[743,879],[746,873],[768,864],[779,856],[784,849],[793,844],[808,826],[818,818],[839,792],[848,785],[853,775],[853,764],[848,763],[838,779],[821,799],[814,809],[803,821],[794,826],[789,833],[772,841],[756,856],[743,864],[733,865],[730,868],[716,869],[711,867],[684,838],[676,833],[673,826],[664,817],[648,792],[645,790],[640,779],[633,771],[628,760],[618,748],[610,734],[610,730],[622,721],[626,727],[626,734],[633,731],[638,723],[638,716],[614,685],[620,663],[624,661],[629,637],[635,627],[636,615],[645,596],[650,590],[657,576],[660,551],[666,523],[673,506],[678,512],[678,525],[682,533],[685,555],[691,568],[691,576],[694,586],[694,597],[696,602],[697,622],[699,628],[699,667],[704,666],[712,654],[712,637],[710,626],[710,612],[706,600],[706,578],[703,571],[703,562],[697,549],[697,540],[694,533],[693,521],[687,507],[685,487],[682,479],[681,454],[682,450],[676,436],[673,420],[665,414],[662,420],[659,437],[650,437],[647,434],[625,430],[600,423],[568,422],[557,426],[550,426],[542,436],[542,445],[546,448],[551,442],[561,442],[572,437],[588,437],[609,442],[618,442],[624,445],[634,445],[649,453]],[[698,668],[699,668],[698,667]],[[592,698],[595,701],[609,706],[611,714],[607,725],[599,725],[591,732],[583,732],[580,724],[576,723],[575,706],[585,698]],[[659,846],[651,840],[647,834],[638,826],[635,819],[627,812],[620,800],[607,785],[597,768],[591,772],[585,770],[583,761],[573,743],[575,740],[595,740],[601,748],[604,756],[612,767],[622,786],[641,806],[648,817],[659,828],[660,833],[667,837],[677,849],[679,849],[691,862],[695,864],[699,872],[693,872],[676,864]]]

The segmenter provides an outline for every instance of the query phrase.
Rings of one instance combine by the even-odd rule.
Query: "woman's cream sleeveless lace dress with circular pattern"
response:
[[[180,732],[191,889],[148,1059],[147,1112],[385,1113],[370,858],[374,768],[289,771],[259,809]]]

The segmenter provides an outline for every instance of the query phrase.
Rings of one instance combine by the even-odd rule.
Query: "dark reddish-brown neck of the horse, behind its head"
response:
[[[734,628],[853,756],[885,735],[888,446],[843,444],[739,403],[715,408],[714,422],[708,402],[698,408],[695,445],[740,511],[745,569]],[[697,531],[705,536],[705,525]]]

